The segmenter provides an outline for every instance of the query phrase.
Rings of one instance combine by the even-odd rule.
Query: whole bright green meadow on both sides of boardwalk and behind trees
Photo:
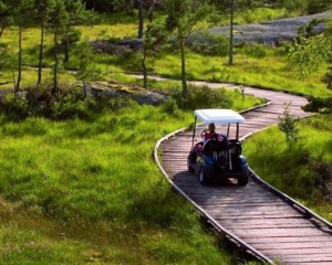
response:
[[[238,15],[237,20],[247,23],[284,15],[290,14],[282,10],[257,10],[257,13]],[[227,18],[222,23],[227,23]],[[137,25],[133,20],[114,17],[107,23],[80,29],[82,38],[103,40],[134,38]],[[11,26],[0,39],[0,47],[11,51],[0,81],[11,81],[11,71],[17,67],[15,36],[17,28]],[[39,30],[25,29],[23,61],[27,68],[22,73],[22,86],[37,81],[37,72],[29,68],[37,65],[35,40],[39,40]],[[48,35],[46,53],[51,51],[51,40]],[[299,80],[279,49],[252,45],[235,52],[235,64],[229,66],[227,56],[188,51],[190,78],[331,96],[331,91],[321,83],[328,65],[322,65],[307,80]],[[75,68],[79,60],[79,51],[73,46],[70,62],[63,67]],[[139,55],[95,54],[93,63],[103,70],[102,81],[142,84],[125,75],[126,71],[141,71],[139,60]],[[52,60],[45,57],[44,66],[52,64]],[[174,78],[180,74],[177,53],[160,53],[148,59],[147,65],[152,74]],[[43,81],[51,78],[51,72],[45,70]],[[62,72],[62,82],[74,80],[73,73]],[[154,91],[179,89],[179,82],[149,81],[148,84]],[[227,95],[231,98],[229,107],[237,110],[260,103],[249,96],[242,98],[238,91],[227,92]],[[251,137],[245,144],[245,153],[259,176],[266,177],[276,170],[269,173],[269,182],[331,221],[331,208],[320,190],[312,188],[315,182],[310,182],[312,178],[303,161],[293,159],[303,150],[305,153],[313,150],[310,152],[313,158],[324,150],[324,159],[331,161],[326,148],[331,146],[329,117],[318,116],[301,123],[302,149],[288,150],[282,132],[274,127]],[[156,141],[189,126],[191,112],[169,115],[164,106],[128,103],[127,107],[104,112],[87,120],[51,121],[31,117],[11,123],[1,114],[0,123],[0,258],[6,264],[253,264],[239,257],[220,235],[200,223],[194,208],[170,190],[154,162],[152,152]],[[322,124],[326,128],[319,129],[317,125]],[[271,146],[271,139],[279,145]],[[261,152],[258,153],[258,149]],[[293,176],[300,172],[301,178],[289,177],[283,165],[293,169]]]

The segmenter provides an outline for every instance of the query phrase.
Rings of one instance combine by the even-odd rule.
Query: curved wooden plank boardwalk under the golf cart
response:
[[[199,82],[196,84],[200,85]],[[235,85],[204,84],[210,87],[239,88]],[[247,123],[240,127],[241,137],[276,125],[278,117],[284,112],[284,104],[290,104],[290,112],[298,117],[310,115],[301,109],[307,104],[307,99],[301,96],[250,87],[246,87],[245,93],[267,98],[270,104],[242,113]],[[218,131],[221,131],[220,128]],[[186,159],[191,148],[191,131],[183,129],[160,139],[156,145],[155,157],[173,187],[215,229],[263,262],[332,264],[331,223],[301,204],[298,205],[294,200],[267,184],[255,172],[246,187],[200,186],[198,177],[187,171]]]

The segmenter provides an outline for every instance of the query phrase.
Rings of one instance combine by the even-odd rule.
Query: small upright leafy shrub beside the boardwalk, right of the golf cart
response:
[[[283,117],[279,117],[278,127],[282,132],[284,132],[286,141],[290,148],[300,138],[297,123],[297,116],[291,114],[289,105],[287,105],[284,107]]]

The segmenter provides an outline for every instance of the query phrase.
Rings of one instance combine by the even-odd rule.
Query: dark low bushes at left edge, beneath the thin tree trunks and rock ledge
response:
[[[87,119],[104,109],[117,110],[132,103],[131,99],[122,97],[94,97],[91,94],[84,96],[82,88],[74,85],[61,85],[59,92],[52,95],[51,87],[33,86],[18,95],[7,93],[0,97],[0,110],[15,121],[28,117],[45,117],[53,120]]]

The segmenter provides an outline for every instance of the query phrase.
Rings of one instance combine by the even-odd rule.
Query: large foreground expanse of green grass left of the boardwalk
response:
[[[2,120],[1,259],[231,264],[153,162],[155,142],[191,118],[132,105],[93,121]]]

